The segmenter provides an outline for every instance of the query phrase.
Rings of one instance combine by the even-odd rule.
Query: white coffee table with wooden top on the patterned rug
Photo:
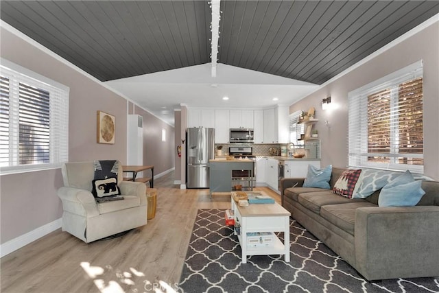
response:
[[[247,192],[248,194],[263,194],[260,191]],[[248,255],[285,255],[285,261],[289,262],[289,216],[291,213],[281,207],[280,204],[249,204],[248,207],[239,207],[239,204],[230,197],[232,209],[235,212],[235,223],[241,225],[238,236],[241,245],[241,261],[247,262]],[[274,243],[268,246],[247,246],[247,233],[250,232],[283,232],[284,241],[281,242],[274,235]]]

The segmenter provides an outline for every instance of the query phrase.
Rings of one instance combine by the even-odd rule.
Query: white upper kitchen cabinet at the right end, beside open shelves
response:
[[[288,115],[288,106],[277,106],[263,110],[264,143],[289,143]]]

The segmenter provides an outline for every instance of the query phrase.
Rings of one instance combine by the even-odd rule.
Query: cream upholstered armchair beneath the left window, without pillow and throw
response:
[[[94,174],[93,161],[62,166],[62,231],[88,243],[147,224],[145,184],[123,181],[119,169],[117,185],[124,199],[97,203],[91,193]]]

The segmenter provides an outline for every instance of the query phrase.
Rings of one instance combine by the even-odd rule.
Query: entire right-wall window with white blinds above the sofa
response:
[[[349,165],[423,173],[422,62],[348,96]]]

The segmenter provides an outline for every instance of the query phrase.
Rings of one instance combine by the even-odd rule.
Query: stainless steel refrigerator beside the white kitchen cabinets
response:
[[[187,188],[209,188],[209,159],[215,156],[214,128],[187,128]]]

